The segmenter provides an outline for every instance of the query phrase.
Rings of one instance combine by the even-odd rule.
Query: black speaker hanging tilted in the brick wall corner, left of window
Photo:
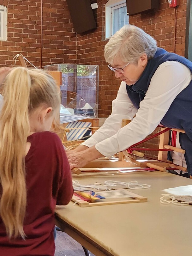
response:
[[[75,32],[82,33],[96,28],[90,0],[67,0]]]

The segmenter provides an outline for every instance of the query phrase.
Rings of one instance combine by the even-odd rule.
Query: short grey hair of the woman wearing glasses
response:
[[[105,60],[114,65],[115,58],[120,58],[125,63],[135,63],[143,54],[147,58],[154,57],[157,51],[157,43],[141,28],[134,25],[125,25],[105,45]]]

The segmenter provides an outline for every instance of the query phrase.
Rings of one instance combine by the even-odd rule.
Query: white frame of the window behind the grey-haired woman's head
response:
[[[110,39],[112,35],[113,10],[126,5],[126,0],[109,0],[105,4],[105,40]]]

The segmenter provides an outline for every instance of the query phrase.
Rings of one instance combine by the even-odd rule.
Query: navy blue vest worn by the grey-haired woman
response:
[[[144,99],[151,78],[159,65],[171,60],[186,65],[192,72],[191,61],[175,53],[169,53],[162,48],[158,48],[153,59],[148,61],[139,80],[134,85],[126,85],[129,98],[137,109],[139,109],[140,101]],[[161,120],[161,124],[169,128],[183,129],[192,141],[192,81],[187,88],[177,95]]]

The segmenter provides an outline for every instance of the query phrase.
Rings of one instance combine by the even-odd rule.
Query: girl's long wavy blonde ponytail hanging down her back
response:
[[[11,238],[21,235],[26,211],[24,157],[30,131],[28,105],[31,79],[28,70],[10,71],[4,88],[0,114],[0,180],[2,197],[0,215]]]

